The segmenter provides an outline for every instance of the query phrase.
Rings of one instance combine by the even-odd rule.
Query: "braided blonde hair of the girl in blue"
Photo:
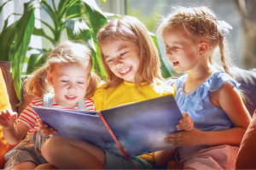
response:
[[[224,71],[233,77],[233,74],[230,72],[230,66],[232,64],[228,44],[225,41],[224,35],[218,29],[220,23],[218,23],[219,21],[212,10],[205,6],[194,8],[174,7],[172,9],[172,14],[169,14],[160,24],[157,30],[158,35],[163,37],[168,31],[183,29],[193,37],[191,41],[207,40],[212,48],[212,52],[217,47],[219,48],[219,54],[215,53],[214,56],[220,56],[220,59],[214,60],[221,60],[221,66],[224,68]],[[212,56],[213,53],[209,58],[211,64]]]

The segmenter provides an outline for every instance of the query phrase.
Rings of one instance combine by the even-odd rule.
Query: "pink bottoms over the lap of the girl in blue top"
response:
[[[239,147],[217,145],[202,149],[180,161],[183,167],[195,169],[235,169]]]

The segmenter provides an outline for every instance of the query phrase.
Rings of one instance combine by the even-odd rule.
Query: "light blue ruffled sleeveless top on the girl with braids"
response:
[[[212,105],[208,93],[218,90],[225,81],[232,82],[236,88],[240,84],[225,72],[213,72],[199,88],[185,94],[183,85],[187,77],[186,74],[177,79],[175,99],[180,110],[191,116],[195,128],[201,131],[220,131],[234,127],[224,110]]]

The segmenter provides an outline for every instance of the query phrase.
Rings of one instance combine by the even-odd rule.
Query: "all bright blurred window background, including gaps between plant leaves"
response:
[[[0,6],[8,0],[0,0]],[[4,25],[9,14],[9,23],[20,19],[23,12],[23,3],[27,0],[14,0],[7,3],[0,14],[0,30]],[[53,6],[52,1],[47,1],[49,6]],[[60,3],[55,0],[55,3]],[[98,7],[107,15],[111,14],[124,15],[128,14],[137,17],[147,26],[148,30],[155,33],[157,26],[160,24],[161,16],[170,13],[172,6],[194,6],[207,5],[212,8],[218,15],[218,20],[225,20],[230,26],[230,35],[226,38],[230,42],[231,59],[233,63],[242,69],[251,69],[256,67],[256,1],[255,0],[96,0]],[[108,14],[111,13],[111,14]],[[113,17],[113,15],[112,15]],[[43,20],[49,25],[54,25],[42,8],[35,9],[35,18]],[[109,20],[111,20],[109,18]],[[44,28],[45,34],[53,37],[49,29],[41,22],[35,20],[36,28]],[[61,40],[67,38],[67,31],[62,31]],[[52,42],[45,37],[32,35],[29,47],[49,49],[53,47]],[[165,60],[166,65],[171,69],[174,76],[179,76],[174,71],[172,64],[165,57],[165,48],[163,42],[159,41],[160,54]],[[29,50],[27,56],[36,54],[36,49]],[[26,71],[26,63],[24,64]]]

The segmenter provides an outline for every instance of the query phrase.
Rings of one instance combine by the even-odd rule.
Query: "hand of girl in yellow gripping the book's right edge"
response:
[[[189,131],[194,128],[194,122],[192,121],[191,117],[188,113],[182,112],[183,118],[181,118],[176,125],[177,130],[185,130]]]

